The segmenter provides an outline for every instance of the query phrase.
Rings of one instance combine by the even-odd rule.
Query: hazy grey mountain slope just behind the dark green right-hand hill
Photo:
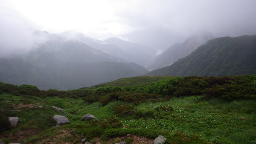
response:
[[[207,40],[212,39],[211,34],[194,35],[187,38],[183,43],[176,43],[169,49],[154,58],[153,62],[147,67],[150,70],[159,69],[164,66],[169,66],[180,58],[189,55]]]

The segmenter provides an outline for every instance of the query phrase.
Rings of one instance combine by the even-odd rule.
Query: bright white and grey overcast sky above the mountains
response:
[[[173,37],[256,35],[256,0],[0,0],[0,26],[2,43],[24,46],[34,29],[98,39],[152,29]]]

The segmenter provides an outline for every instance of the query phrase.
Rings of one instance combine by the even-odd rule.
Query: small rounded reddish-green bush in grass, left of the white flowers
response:
[[[124,104],[113,108],[114,114],[117,116],[127,116],[134,114],[134,107]]]

